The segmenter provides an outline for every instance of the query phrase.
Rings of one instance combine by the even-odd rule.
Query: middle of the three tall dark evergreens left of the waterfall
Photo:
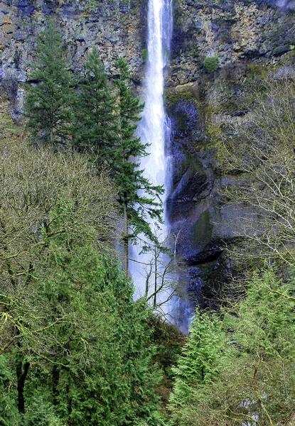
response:
[[[117,140],[117,119],[114,97],[97,48],[92,49],[84,68],[85,77],[78,82],[73,145],[79,151],[90,151],[99,164],[110,167]]]

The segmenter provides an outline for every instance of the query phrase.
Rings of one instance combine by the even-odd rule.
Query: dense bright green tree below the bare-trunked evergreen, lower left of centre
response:
[[[150,366],[145,305],[133,302],[132,287],[109,256],[86,246],[69,257],[58,242],[50,257],[42,288],[55,317],[67,315],[53,332],[63,342],[53,342],[50,356],[58,366],[55,411],[79,426],[134,425],[140,418],[156,425],[153,389],[161,376]]]

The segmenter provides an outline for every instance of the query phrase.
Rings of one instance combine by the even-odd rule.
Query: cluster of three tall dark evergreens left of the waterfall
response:
[[[127,61],[115,63],[117,78],[109,82],[97,48],[81,75],[70,73],[62,37],[49,21],[38,38],[36,62],[26,87],[24,114],[38,143],[75,149],[90,155],[98,170],[109,170],[124,218],[124,270],[128,276],[129,243],[143,233],[158,242],[149,218],[161,222],[163,187],[152,185],[139,169],[146,145],[136,135],[144,104],[130,87]]]

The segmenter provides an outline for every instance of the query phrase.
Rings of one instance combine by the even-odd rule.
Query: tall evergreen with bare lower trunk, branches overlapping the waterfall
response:
[[[161,222],[160,195],[163,194],[163,187],[152,185],[144,178],[144,170],[139,168],[140,158],[148,155],[147,144],[136,136],[137,124],[141,119],[139,114],[144,104],[139,97],[134,97],[129,87],[131,77],[127,61],[119,58],[115,65],[119,70],[119,78],[114,80],[119,138],[114,151],[114,182],[124,216],[124,269],[128,275],[129,241],[134,241],[141,233],[152,241],[156,240],[149,218]]]

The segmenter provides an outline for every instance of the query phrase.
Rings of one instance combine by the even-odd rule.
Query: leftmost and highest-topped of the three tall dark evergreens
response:
[[[49,21],[37,40],[23,111],[33,134],[51,146],[65,143],[72,120],[73,79],[62,43],[62,36]]]

